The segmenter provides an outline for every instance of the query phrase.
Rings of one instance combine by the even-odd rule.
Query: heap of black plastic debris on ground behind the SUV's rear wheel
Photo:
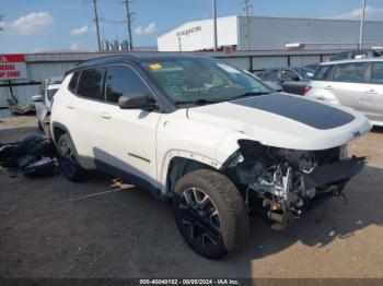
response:
[[[13,172],[21,170],[28,177],[53,176],[58,172],[53,140],[33,134],[20,142],[0,146],[0,165]]]

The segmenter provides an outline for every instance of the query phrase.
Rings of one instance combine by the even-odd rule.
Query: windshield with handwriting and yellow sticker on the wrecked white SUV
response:
[[[235,68],[209,59],[170,59],[142,63],[175,104],[206,104],[271,93]]]

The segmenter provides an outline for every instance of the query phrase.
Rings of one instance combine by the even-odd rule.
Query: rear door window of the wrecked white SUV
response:
[[[103,100],[103,81],[105,68],[83,70],[80,75],[77,94],[95,100]]]

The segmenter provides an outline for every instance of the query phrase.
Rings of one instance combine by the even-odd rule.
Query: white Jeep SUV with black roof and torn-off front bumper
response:
[[[349,108],[272,93],[194,56],[83,62],[51,111],[69,180],[97,168],[172,200],[182,236],[211,259],[241,246],[249,210],[283,228],[312,199],[341,194],[364,165],[346,144],[370,128]]]

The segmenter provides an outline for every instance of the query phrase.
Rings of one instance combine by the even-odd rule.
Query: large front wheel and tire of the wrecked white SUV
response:
[[[248,212],[225,176],[196,170],[182,177],[174,192],[175,221],[194,251],[222,259],[244,242],[249,230]]]

